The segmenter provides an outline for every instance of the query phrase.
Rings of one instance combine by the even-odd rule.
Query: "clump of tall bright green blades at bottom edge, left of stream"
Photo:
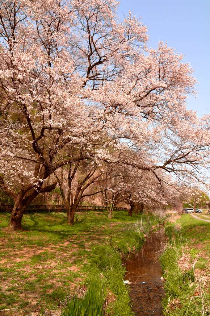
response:
[[[61,316],[102,316],[105,299],[106,290],[102,280],[92,277],[85,295],[72,298]]]

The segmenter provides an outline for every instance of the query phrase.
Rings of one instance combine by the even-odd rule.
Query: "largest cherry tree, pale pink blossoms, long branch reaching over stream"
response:
[[[131,13],[120,22],[117,8],[0,1],[0,187],[14,201],[13,230],[68,163],[91,157],[160,181],[159,169],[199,177],[208,162],[206,120],[185,106],[192,69],[162,42],[148,49],[146,27]]]

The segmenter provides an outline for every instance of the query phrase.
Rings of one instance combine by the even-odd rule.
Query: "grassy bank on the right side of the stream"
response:
[[[166,234],[169,245],[161,257],[167,293],[164,315],[209,315],[210,223],[185,214],[169,224]]]

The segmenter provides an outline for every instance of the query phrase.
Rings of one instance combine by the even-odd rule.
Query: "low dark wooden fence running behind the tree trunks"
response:
[[[0,211],[11,212],[11,204],[0,204]],[[88,212],[88,211],[106,211],[105,206],[87,206],[81,205],[77,207],[77,212]],[[127,210],[125,207],[114,207],[114,211]],[[25,213],[35,212],[66,212],[65,205],[46,205],[46,204],[30,204],[28,205]]]

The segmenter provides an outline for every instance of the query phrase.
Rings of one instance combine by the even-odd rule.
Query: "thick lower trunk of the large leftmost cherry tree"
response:
[[[10,220],[9,220],[9,228],[13,231],[20,230],[22,231],[22,217],[23,212],[25,210],[26,206],[22,205],[22,196],[17,196]]]

